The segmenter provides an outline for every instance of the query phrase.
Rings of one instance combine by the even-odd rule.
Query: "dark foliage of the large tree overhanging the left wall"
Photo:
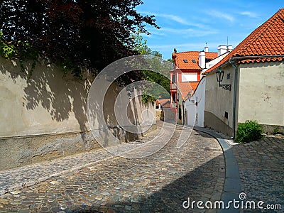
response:
[[[80,67],[102,70],[137,53],[131,33],[148,33],[146,24],[158,28],[154,16],[136,11],[140,4],[141,0],[4,0],[0,39],[13,47],[17,58],[36,51],[75,75],[80,75]]]

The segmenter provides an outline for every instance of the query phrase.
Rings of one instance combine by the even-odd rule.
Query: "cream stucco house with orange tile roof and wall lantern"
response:
[[[284,131],[284,9],[205,74],[204,126],[232,138],[246,120]]]

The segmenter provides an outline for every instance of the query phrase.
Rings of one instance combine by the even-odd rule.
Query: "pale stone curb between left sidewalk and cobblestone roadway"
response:
[[[163,129],[162,129],[163,130]],[[165,133],[165,131],[162,131],[161,135],[160,136],[163,136],[163,134]],[[146,136],[147,137],[147,136]],[[137,148],[133,148],[132,150],[130,151],[133,151]],[[130,152],[130,151],[126,151],[127,152]],[[70,169],[66,169],[66,170],[62,170],[58,173],[53,173],[53,174],[50,174],[50,175],[45,175],[41,178],[35,178],[35,180],[28,180],[27,182],[21,182],[21,183],[17,183],[15,185],[12,185],[12,186],[9,186],[9,187],[6,187],[4,190],[0,190],[0,195],[4,195],[6,193],[9,193],[9,192],[13,192],[13,191],[16,191],[16,190],[22,190],[23,188],[25,187],[31,187],[33,185],[36,185],[38,184],[39,182],[43,182],[45,180],[48,180],[50,178],[54,178],[54,177],[59,177],[61,175],[65,175],[67,173],[74,173],[74,172],[77,172],[79,170],[82,170],[83,168],[87,168],[87,167],[91,167],[99,162],[102,162],[104,160],[109,160],[110,158],[116,158],[116,157],[119,157],[117,155],[111,155],[107,158],[104,158],[104,159],[101,159],[101,160],[97,160],[95,162],[92,162],[92,163],[87,163],[87,164],[84,164],[84,165],[80,165],[80,166],[76,166],[76,167],[72,167]],[[57,160],[57,159],[55,159]]]

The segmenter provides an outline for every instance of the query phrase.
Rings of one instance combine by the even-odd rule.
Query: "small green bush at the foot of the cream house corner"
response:
[[[249,143],[251,141],[257,141],[263,136],[263,129],[258,121],[246,121],[243,124],[238,125],[236,131],[236,142]]]

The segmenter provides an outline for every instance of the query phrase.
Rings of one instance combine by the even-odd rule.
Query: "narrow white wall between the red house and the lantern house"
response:
[[[187,125],[189,126],[204,127],[205,85],[206,77],[203,77],[195,90],[195,94],[185,102]],[[195,105],[196,102],[197,106]]]

